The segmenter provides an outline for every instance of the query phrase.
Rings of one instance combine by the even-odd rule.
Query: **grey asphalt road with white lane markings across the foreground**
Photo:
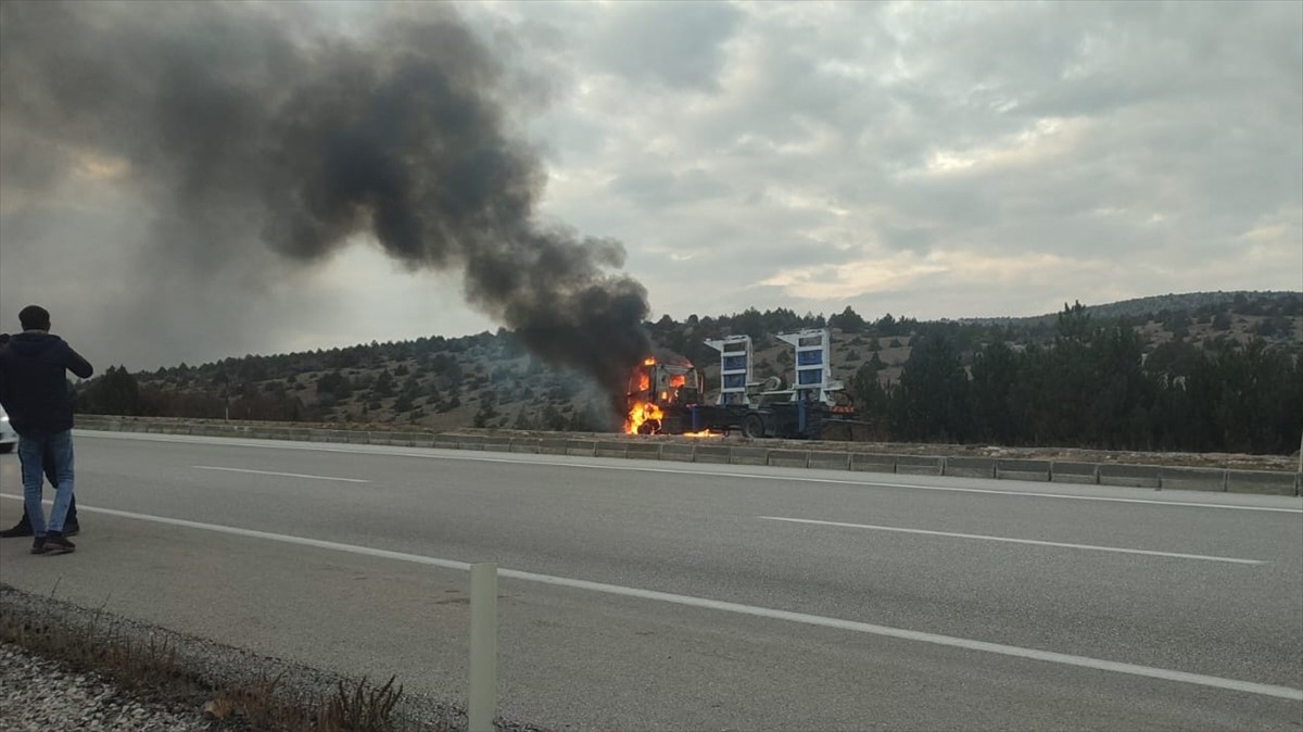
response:
[[[0,581],[572,729],[1300,729],[1303,501],[79,432]],[[0,456],[0,522],[21,504]],[[57,589],[56,589],[57,586]]]

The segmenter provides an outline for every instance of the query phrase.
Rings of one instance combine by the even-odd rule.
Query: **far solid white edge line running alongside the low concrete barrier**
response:
[[[563,462],[559,460],[524,460],[524,453],[521,458],[507,458],[507,457],[478,457],[472,455],[448,455],[447,452],[439,452],[444,448],[417,448],[421,452],[412,452],[413,448],[394,448],[390,445],[367,445],[371,448],[383,449],[356,449],[349,447],[319,447],[309,445],[308,443],[293,443],[291,444],[271,444],[270,442],[251,442],[242,440],[237,438],[202,438],[192,435],[136,435],[136,434],[117,434],[117,432],[79,432],[78,436],[86,438],[99,438],[99,439],[117,439],[117,440],[141,440],[141,442],[160,442],[160,443],[189,443],[189,444],[206,444],[206,445],[219,445],[219,447],[255,447],[263,449],[298,449],[308,452],[343,452],[349,455],[373,455],[373,456],[401,456],[401,457],[420,457],[422,460],[461,460],[466,462],[504,462],[509,465],[550,465],[555,468],[575,468],[586,470],[628,470],[635,473],[672,473],[676,475],[710,475],[715,478],[743,478],[748,481],[787,481],[792,483],[831,483],[838,486],[859,486],[859,487],[883,487],[883,488],[911,488],[917,491],[949,491],[960,494],[992,494],[992,495],[1010,495],[1010,496],[1033,496],[1033,498],[1059,498],[1068,500],[1097,500],[1105,503],[1141,503],[1149,505],[1182,505],[1190,508],[1225,508],[1230,511],[1267,511],[1272,513],[1303,513],[1303,508],[1277,508],[1267,505],[1233,505],[1225,503],[1200,503],[1200,501],[1179,501],[1179,500],[1153,500],[1153,499],[1139,499],[1139,498],[1109,498],[1109,496],[1078,496],[1070,494],[1045,494],[1036,491],[1010,491],[998,488],[960,488],[955,486],[920,486],[917,483],[885,483],[878,481],[847,481],[842,478],[813,478],[804,475],[765,475],[760,473],[722,473],[717,470],[683,470],[675,468],[646,468],[640,465],[592,465],[585,462]],[[212,440],[212,442],[208,442]],[[601,458],[598,458],[601,460]],[[612,458],[614,460],[614,458]],[[702,465],[694,462],[693,465]],[[709,464],[708,464],[709,465]],[[1293,496],[1282,496],[1293,498]]]

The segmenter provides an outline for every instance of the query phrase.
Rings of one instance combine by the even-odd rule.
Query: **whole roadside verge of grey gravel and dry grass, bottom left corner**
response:
[[[340,684],[354,689],[356,679],[176,633],[126,617],[38,597],[0,584],[0,729],[142,729],[248,731],[237,716],[212,720],[205,705],[224,693],[266,686],[276,680],[278,694],[291,699],[336,696]],[[87,628],[93,630],[87,634]],[[141,647],[167,649],[167,683],[115,683],[98,659],[69,662],[38,650],[51,636],[91,643],[134,641]],[[26,642],[25,642],[26,638]],[[48,643],[46,643],[48,645]],[[373,683],[375,680],[371,680]],[[378,680],[379,684],[387,681]],[[401,679],[396,681],[401,684]],[[464,710],[404,692],[395,707],[395,732],[459,731],[466,728]],[[504,732],[549,732],[513,720],[496,720]]]

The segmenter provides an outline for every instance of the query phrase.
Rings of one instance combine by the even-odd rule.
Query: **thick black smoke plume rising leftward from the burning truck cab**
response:
[[[446,5],[416,5],[357,29],[297,4],[5,1],[3,182],[39,197],[87,158],[121,162],[160,255],[195,270],[250,238],[313,262],[370,233],[413,270],[463,272],[468,302],[623,409],[646,290],[611,272],[619,242],[538,223],[546,173],[511,134],[502,64]]]

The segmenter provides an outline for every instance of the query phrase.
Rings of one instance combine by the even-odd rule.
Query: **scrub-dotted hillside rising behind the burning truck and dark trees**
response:
[[[1303,293],[1191,293],[1078,309],[1092,327],[1115,323],[1139,339],[1143,356],[1164,359],[1175,350],[1212,353],[1260,341],[1295,361],[1303,344]],[[864,374],[887,391],[898,386],[920,337],[945,336],[971,373],[976,354],[992,344],[1015,352],[1054,343],[1061,315],[1023,319],[917,322],[883,315],[866,320],[847,307],[839,314],[797,317],[790,310],[718,318],[665,317],[646,328],[657,349],[691,358],[704,369],[708,389],[718,387],[718,353],[706,339],[748,333],[756,341],[756,375],[791,376],[790,346],[774,333],[829,327],[834,376],[857,401]],[[1181,344],[1182,349],[1174,349]],[[1188,346],[1188,349],[1186,349]],[[872,367],[865,369],[872,363]],[[855,382],[860,374],[860,382]],[[606,397],[577,374],[555,370],[525,353],[506,331],[400,343],[371,343],[344,349],[283,356],[246,356],[201,366],[179,365],[154,373],[109,373],[81,384],[85,412],[280,419],[332,423],[526,430],[615,430]],[[864,413],[872,405],[859,404]],[[886,406],[882,406],[886,425]],[[886,430],[886,427],[883,427]],[[883,430],[873,435],[887,436]],[[1091,445],[1102,447],[1102,445]]]

